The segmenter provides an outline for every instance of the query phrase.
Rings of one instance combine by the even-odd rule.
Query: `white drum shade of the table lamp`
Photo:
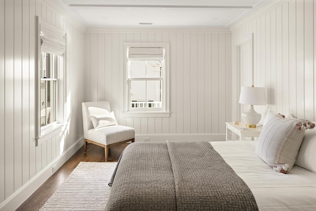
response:
[[[241,86],[239,103],[246,105],[266,105],[265,88]]]

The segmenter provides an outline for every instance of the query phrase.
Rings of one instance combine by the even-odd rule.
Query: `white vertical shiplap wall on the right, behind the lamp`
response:
[[[251,33],[255,86],[266,87],[267,94],[267,106],[256,110],[263,118],[272,108],[316,121],[316,1],[290,0],[239,23],[232,29],[233,64],[236,44]],[[233,99],[235,118],[237,103],[238,97]]]

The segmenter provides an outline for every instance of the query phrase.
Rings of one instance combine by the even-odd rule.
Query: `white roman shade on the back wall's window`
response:
[[[163,47],[129,47],[129,60],[163,60]]]

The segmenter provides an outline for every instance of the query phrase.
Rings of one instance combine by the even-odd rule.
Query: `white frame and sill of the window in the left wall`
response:
[[[37,48],[36,48],[36,74],[35,74],[35,84],[36,84],[36,145],[40,145],[42,142],[45,141],[46,135],[53,132],[53,131],[59,131],[61,127],[64,126],[65,122],[65,111],[64,111],[64,103],[66,102],[65,100],[65,90],[66,90],[66,84],[65,84],[65,78],[66,78],[66,51],[62,55],[57,55],[51,52],[48,52],[53,55],[57,55],[58,58],[58,64],[56,64],[56,76],[53,81],[56,81],[55,84],[55,92],[56,92],[56,121],[47,124],[46,126],[40,126],[40,82],[41,81],[52,81],[50,78],[48,79],[41,79],[41,37],[40,37],[40,31],[41,28],[48,29],[57,35],[65,37],[65,42],[67,46],[67,34],[63,30],[51,25],[50,23],[42,20],[40,17],[37,16]],[[43,51],[46,52],[46,51]],[[45,137],[44,137],[45,136]]]

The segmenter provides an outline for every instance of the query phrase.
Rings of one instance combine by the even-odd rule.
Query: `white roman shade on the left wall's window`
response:
[[[40,50],[46,53],[62,55],[66,50],[65,34],[58,34],[41,26]]]

